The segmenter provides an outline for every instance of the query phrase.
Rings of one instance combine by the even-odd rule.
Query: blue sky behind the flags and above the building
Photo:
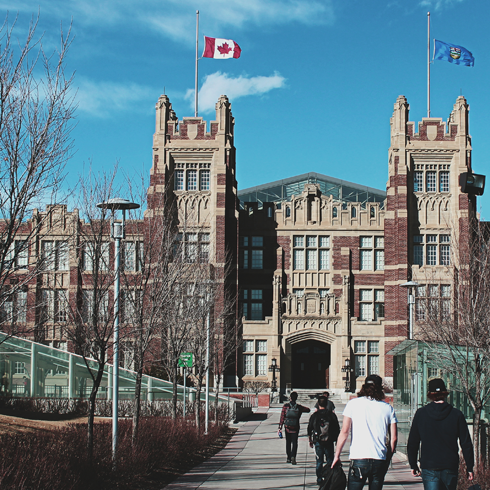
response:
[[[447,119],[468,100],[473,170],[490,157],[488,0],[0,0],[18,14],[22,40],[32,15],[54,48],[73,22],[68,69],[78,89],[73,185],[89,162],[149,174],[154,107],[169,96],[179,118],[194,115],[196,9],[203,36],[234,39],[238,60],[199,62],[199,115],[214,119],[226,94],[235,116],[239,189],[319,172],[385,189],[389,120],[398,95],[410,120],[427,114],[427,12],[431,37],[472,51],[474,68],[436,61],[431,115]],[[478,201],[490,219],[490,180]]]

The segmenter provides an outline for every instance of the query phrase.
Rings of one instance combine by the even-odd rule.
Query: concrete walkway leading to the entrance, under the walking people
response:
[[[342,413],[339,410],[338,413]],[[182,489],[318,489],[315,452],[308,445],[303,414],[298,441],[298,464],[286,463],[285,440],[277,437],[280,408],[259,409],[250,421],[240,424],[228,445],[189,473],[165,488]],[[339,416],[341,419],[341,416]],[[347,443],[342,452],[344,470],[349,465]],[[365,486],[367,489],[367,485]],[[407,464],[397,454],[385,479],[384,490],[422,490],[420,478],[412,477]]]

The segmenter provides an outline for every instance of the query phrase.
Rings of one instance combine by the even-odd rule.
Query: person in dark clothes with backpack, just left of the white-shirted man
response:
[[[318,398],[318,410],[310,417],[308,422],[308,439],[310,447],[315,447],[316,455],[316,482],[322,483],[323,459],[326,466],[332,464],[334,458],[333,444],[337,441],[340,433],[337,415],[328,408],[328,398]]]

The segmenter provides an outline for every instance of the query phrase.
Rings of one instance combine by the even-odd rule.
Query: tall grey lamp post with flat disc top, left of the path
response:
[[[111,216],[111,238],[115,241],[115,264],[114,270],[116,273],[114,282],[114,359],[112,368],[112,461],[115,464],[117,451],[117,422],[118,422],[118,402],[119,402],[119,287],[120,287],[120,262],[121,262],[121,240],[125,238],[124,225],[126,220],[127,209],[137,209],[139,204],[120,199],[118,197],[109,199],[105,202],[97,204],[98,208],[110,209]],[[122,211],[121,222],[115,221],[116,211]]]

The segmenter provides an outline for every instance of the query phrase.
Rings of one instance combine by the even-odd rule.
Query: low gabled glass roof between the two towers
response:
[[[316,172],[243,189],[238,191],[238,199],[240,199],[241,205],[245,202],[258,202],[260,205],[264,202],[291,201],[291,196],[301,194],[306,184],[318,184],[324,196],[331,195],[341,202],[383,203],[386,199],[385,191],[335,179]]]

